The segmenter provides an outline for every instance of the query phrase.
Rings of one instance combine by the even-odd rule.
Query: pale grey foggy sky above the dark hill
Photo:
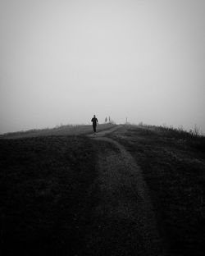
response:
[[[205,132],[205,1],[0,0],[0,133],[103,122]]]

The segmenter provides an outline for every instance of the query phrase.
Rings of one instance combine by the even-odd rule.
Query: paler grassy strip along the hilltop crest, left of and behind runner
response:
[[[107,130],[112,128],[113,124],[107,123],[97,126],[97,131]],[[28,137],[38,137],[38,136],[51,136],[51,135],[87,135],[93,132],[93,126],[84,125],[67,125],[59,126],[51,129],[35,129],[35,130],[25,130],[18,132],[11,132],[4,135],[0,135],[0,139],[17,139],[17,138],[28,138]]]

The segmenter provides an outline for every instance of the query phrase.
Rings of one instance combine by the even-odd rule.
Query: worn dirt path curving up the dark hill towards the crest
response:
[[[121,144],[104,137],[118,129],[121,126],[89,135],[112,144],[106,152],[99,149],[97,183],[101,199],[93,218],[100,224],[91,235],[95,242],[90,246],[96,255],[166,255],[142,171]],[[99,242],[99,237],[104,238]]]

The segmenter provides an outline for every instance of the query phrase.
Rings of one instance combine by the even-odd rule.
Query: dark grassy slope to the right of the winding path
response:
[[[155,126],[125,126],[110,136],[142,168],[171,252],[204,255],[205,138]]]

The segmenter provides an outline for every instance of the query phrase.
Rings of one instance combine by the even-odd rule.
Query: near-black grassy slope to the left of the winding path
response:
[[[93,141],[47,136],[0,140],[1,255],[74,255],[95,201]],[[93,189],[94,191],[94,189]]]

